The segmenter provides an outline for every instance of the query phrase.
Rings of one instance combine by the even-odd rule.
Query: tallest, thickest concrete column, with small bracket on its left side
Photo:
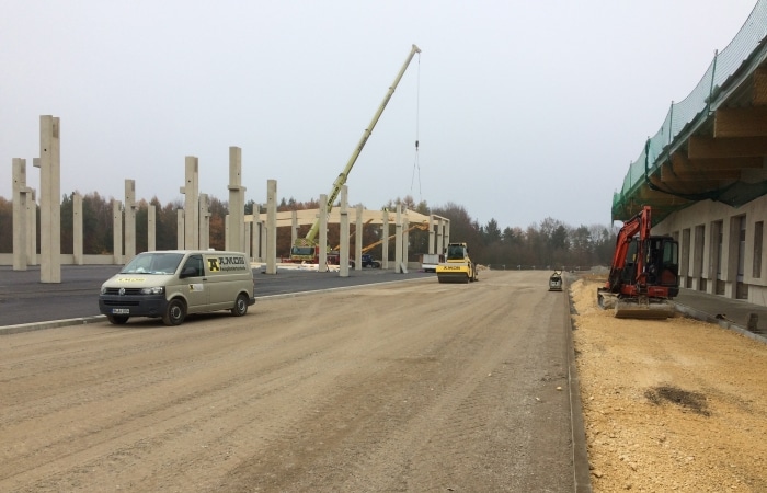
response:
[[[41,169],[41,283],[61,282],[61,168],[60,122],[58,117],[39,117]]]

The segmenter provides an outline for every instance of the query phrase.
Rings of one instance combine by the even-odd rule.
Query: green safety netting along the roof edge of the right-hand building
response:
[[[649,176],[653,174],[668,157],[668,150],[677,144],[675,139],[689,128],[710,118],[710,107],[722,96],[722,89],[733,83],[751,62],[767,49],[767,0],[758,0],[743,27],[730,44],[714,55],[711,65],[692,92],[678,103],[672,103],[668,113],[657,133],[648,139],[636,161],[629,165],[620,192],[613,196],[613,219],[627,220],[633,217],[643,205],[653,207],[653,222],[663,220],[669,214],[688,207],[698,200],[711,199],[723,202],[733,207],[742,206],[767,194],[767,181],[746,183],[734,181],[717,190],[707,190],[697,194],[674,194],[653,186]],[[666,192],[667,196],[653,204],[649,192]],[[665,195],[662,193],[661,195]]]

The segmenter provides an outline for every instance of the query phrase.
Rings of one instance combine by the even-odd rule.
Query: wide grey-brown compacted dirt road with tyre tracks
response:
[[[0,491],[572,491],[565,295],[483,274],[0,337]]]

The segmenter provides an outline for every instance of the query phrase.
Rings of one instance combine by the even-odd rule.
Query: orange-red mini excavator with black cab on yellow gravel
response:
[[[610,274],[597,289],[600,308],[615,317],[667,319],[679,294],[679,244],[667,236],[651,236],[651,208],[644,206],[618,232]]]

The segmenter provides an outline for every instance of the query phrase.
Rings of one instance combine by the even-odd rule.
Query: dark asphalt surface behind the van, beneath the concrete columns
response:
[[[99,313],[99,289],[115,275],[118,265],[62,265],[61,283],[39,282],[39,266],[13,271],[0,266],[0,328],[22,323],[94,317]],[[350,270],[348,277],[337,272],[279,270],[277,275],[254,270],[255,298],[318,289],[359,286],[435,276],[423,272],[394,274],[393,271]],[[436,282],[436,279],[435,279]]]

